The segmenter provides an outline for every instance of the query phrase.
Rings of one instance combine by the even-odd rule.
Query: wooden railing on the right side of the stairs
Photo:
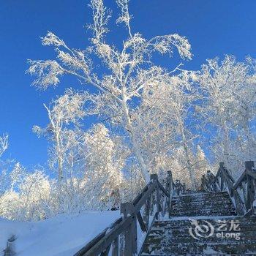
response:
[[[208,191],[227,191],[233,201],[236,211],[240,215],[255,213],[256,170],[253,161],[245,162],[244,173],[235,182],[223,162],[219,163],[219,170],[214,178],[204,177],[202,187]]]

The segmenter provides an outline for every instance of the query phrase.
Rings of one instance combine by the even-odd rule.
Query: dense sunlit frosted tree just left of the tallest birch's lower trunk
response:
[[[110,209],[118,206],[124,183],[122,173],[126,159],[124,148],[114,143],[108,129],[102,124],[95,125],[89,131],[86,143],[88,157],[85,178],[88,197],[94,202],[95,208]]]

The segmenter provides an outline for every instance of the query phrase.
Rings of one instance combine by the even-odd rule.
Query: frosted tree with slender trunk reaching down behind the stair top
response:
[[[195,72],[181,72],[179,75],[167,75],[158,84],[147,85],[143,91],[143,103],[138,115],[141,132],[140,140],[148,152],[149,162],[155,159],[170,158],[182,147],[186,164],[183,171],[189,173],[192,188],[196,188],[193,154],[193,135],[187,125],[197,99],[197,91],[192,83]],[[145,135],[143,135],[145,133]],[[154,141],[154,142],[153,142]],[[184,161],[183,161],[184,162]]]

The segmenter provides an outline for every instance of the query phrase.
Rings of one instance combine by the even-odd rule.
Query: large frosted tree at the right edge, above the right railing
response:
[[[255,159],[255,61],[238,62],[233,56],[203,64],[200,86],[202,124],[214,134],[211,147],[218,162],[238,169],[245,159]],[[238,164],[240,162],[240,164]]]

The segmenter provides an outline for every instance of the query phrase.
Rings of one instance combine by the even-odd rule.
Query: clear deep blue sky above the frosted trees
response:
[[[105,1],[113,7],[114,1]],[[58,89],[37,91],[25,74],[26,59],[49,59],[53,50],[42,47],[39,37],[53,31],[74,48],[87,44],[86,29],[90,12],[85,0],[2,0],[0,3],[0,133],[10,134],[7,157],[23,165],[43,164],[47,142],[31,132],[34,124],[44,126],[47,116],[42,103],[48,103],[64,86],[76,81],[63,80]],[[206,59],[233,54],[239,60],[256,58],[255,0],[131,0],[133,31],[144,37],[178,33],[192,45],[194,57],[187,69],[199,69]],[[111,39],[120,38],[115,33]],[[171,59],[162,61],[173,67]]]

